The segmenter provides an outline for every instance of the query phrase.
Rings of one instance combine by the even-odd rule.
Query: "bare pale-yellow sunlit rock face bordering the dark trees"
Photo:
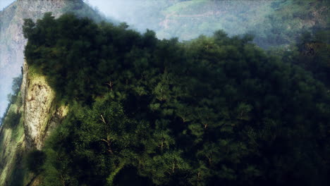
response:
[[[44,140],[51,130],[66,116],[66,106],[55,104],[55,92],[44,76],[33,73],[24,63],[23,126],[27,148],[42,149]]]

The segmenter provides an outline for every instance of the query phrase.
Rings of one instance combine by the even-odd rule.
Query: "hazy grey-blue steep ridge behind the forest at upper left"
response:
[[[17,0],[0,12],[0,113],[6,108],[6,94],[11,90],[13,77],[18,76],[23,65],[26,39],[22,25],[25,18],[37,20],[44,13],[52,12],[59,17],[62,13],[73,12],[94,20],[102,20],[90,6],[81,0]]]

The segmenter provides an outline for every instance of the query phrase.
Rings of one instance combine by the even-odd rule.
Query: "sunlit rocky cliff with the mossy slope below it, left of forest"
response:
[[[0,185],[28,185],[37,182],[23,165],[31,149],[42,149],[47,136],[61,123],[67,106],[55,102],[54,91],[43,75],[24,63],[20,99],[12,104],[10,114],[20,116],[19,123],[5,122],[0,128]]]

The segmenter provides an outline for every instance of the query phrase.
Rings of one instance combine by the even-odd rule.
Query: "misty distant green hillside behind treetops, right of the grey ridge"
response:
[[[228,35],[255,35],[262,48],[296,42],[305,31],[329,27],[329,1],[316,0],[113,0],[118,20],[159,38],[188,40],[224,30]]]

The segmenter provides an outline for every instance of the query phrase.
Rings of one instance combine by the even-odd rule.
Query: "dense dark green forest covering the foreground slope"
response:
[[[250,35],[159,40],[51,13],[23,32],[30,69],[70,108],[27,158],[43,185],[329,184],[329,63],[308,45],[317,35],[265,52]]]

